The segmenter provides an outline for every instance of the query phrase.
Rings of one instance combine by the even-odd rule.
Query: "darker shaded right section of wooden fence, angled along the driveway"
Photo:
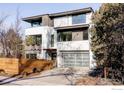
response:
[[[26,64],[22,65],[21,75],[28,76],[29,74],[42,72],[53,68],[52,61],[46,60],[30,60]]]

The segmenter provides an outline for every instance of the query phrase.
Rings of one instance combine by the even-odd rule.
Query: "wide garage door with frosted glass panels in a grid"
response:
[[[89,52],[61,52],[63,67],[89,67]]]

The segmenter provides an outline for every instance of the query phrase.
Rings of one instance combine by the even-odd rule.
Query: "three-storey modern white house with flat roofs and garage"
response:
[[[92,67],[89,34],[92,13],[88,7],[23,18],[31,24],[25,37],[34,41],[25,46],[26,57],[57,60],[58,67]]]

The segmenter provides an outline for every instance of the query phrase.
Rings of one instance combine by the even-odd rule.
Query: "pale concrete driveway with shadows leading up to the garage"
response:
[[[7,78],[0,76],[1,85],[74,85],[75,81],[86,75],[88,69],[55,68],[28,78]]]

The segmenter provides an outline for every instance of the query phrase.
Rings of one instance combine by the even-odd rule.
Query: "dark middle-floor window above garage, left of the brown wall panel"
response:
[[[72,41],[72,32],[59,32],[58,41]]]

